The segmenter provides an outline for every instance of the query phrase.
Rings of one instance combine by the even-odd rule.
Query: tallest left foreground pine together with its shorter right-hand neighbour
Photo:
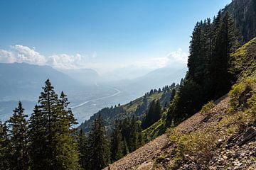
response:
[[[79,169],[73,113],[65,94],[57,94],[49,79],[29,120],[31,169]]]

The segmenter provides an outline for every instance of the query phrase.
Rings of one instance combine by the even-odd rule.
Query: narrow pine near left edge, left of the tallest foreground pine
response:
[[[28,115],[23,113],[21,101],[9,120],[11,147],[13,148],[11,169],[28,169]]]

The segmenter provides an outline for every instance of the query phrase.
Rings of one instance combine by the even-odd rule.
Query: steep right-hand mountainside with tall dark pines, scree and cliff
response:
[[[255,23],[255,15],[247,8],[252,10],[255,1],[233,1],[230,6],[238,8],[241,3],[248,17],[244,25],[238,22],[238,10],[221,10],[212,21],[207,18],[196,23],[188,73],[164,119],[170,127],[169,142],[163,135],[110,165],[110,169],[256,168],[256,39],[247,42],[252,38]],[[240,47],[244,42],[247,43]],[[225,94],[229,97],[220,98]],[[192,116],[198,111],[201,112]],[[235,149],[239,147],[242,148]],[[149,148],[151,152],[144,152]]]

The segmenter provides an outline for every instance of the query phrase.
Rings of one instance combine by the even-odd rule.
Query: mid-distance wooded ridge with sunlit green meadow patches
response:
[[[89,132],[93,121],[99,115],[101,115],[105,126],[110,131],[111,128],[114,127],[115,120],[132,118],[132,116],[135,116],[138,120],[143,120],[146,111],[148,111],[149,106],[154,104],[154,101],[159,101],[161,108],[166,108],[169,105],[171,98],[173,98],[175,90],[178,89],[178,86],[178,84],[171,84],[171,86],[164,86],[162,89],[151,89],[151,91],[147,92],[144,96],[122,106],[118,104],[117,106],[111,106],[110,108],[102,108],[101,111],[92,115],[89,120],[85,121],[85,123],[82,123],[78,129],[81,129],[84,132]]]

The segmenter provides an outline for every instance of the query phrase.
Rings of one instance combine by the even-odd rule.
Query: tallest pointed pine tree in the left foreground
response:
[[[37,113],[35,113],[33,118],[37,118],[34,121],[39,121],[38,126],[36,129],[40,130],[40,138],[36,139],[39,141],[31,141],[31,142],[41,142],[43,145],[39,147],[38,157],[40,159],[32,160],[32,164],[35,166],[39,166],[45,169],[55,169],[57,164],[55,159],[55,146],[57,142],[55,141],[55,132],[58,129],[58,108],[59,108],[59,101],[58,95],[55,94],[53,86],[50,84],[50,80],[46,80],[46,86],[44,86],[43,91],[41,92],[41,96],[39,96],[38,103],[39,105],[35,108],[37,109]],[[37,114],[37,115],[36,115]],[[32,121],[33,119],[31,119]],[[35,123],[36,123],[35,122]],[[31,123],[34,125],[35,123]],[[34,136],[32,130],[30,130],[31,135]],[[31,148],[37,149],[37,148]],[[42,149],[42,150],[41,150]],[[36,156],[36,155],[35,155]],[[36,161],[36,162],[33,162]],[[38,168],[39,168],[38,167]]]

